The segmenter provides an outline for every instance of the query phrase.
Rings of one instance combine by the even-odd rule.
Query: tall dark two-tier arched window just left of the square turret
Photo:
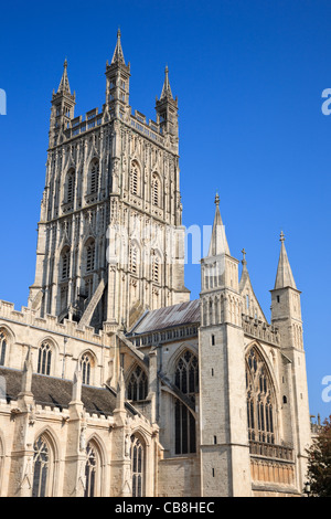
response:
[[[178,361],[174,383],[192,403],[195,402],[195,393],[199,392],[199,366],[197,358],[189,350]],[[174,425],[175,454],[195,453],[195,419],[180,400],[177,400],[174,405]]]

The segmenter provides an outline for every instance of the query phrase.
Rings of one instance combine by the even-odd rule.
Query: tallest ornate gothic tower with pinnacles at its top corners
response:
[[[129,106],[120,32],[106,103],[74,116],[67,62],[52,97],[46,182],[29,306],[100,328],[189,299],[184,287],[178,100],[168,67],[157,121]]]

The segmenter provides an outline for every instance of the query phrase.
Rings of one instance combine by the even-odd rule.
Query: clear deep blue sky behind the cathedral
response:
[[[64,59],[76,115],[102,107],[120,27],[132,110],[154,118],[169,65],[183,223],[211,224],[218,191],[231,253],[241,260],[246,248],[268,318],[284,230],[302,290],[310,411],[329,415],[321,382],[331,375],[331,116],[321,93],[331,87],[330,20],[328,0],[2,3],[0,297],[20,309],[34,279],[50,99]],[[199,265],[188,265],[186,286],[199,297]]]

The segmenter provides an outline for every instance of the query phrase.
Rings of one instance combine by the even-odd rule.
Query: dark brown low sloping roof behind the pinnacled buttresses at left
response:
[[[10,402],[18,399],[22,384],[22,371],[0,368],[0,378],[6,380],[6,398]],[[3,384],[2,384],[3,385]],[[67,409],[72,400],[73,382],[33,373],[32,393],[36,404]],[[82,401],[86,412],[111,415],[116,407],[116,393],[108,388],[82,386]],[[127,406],[132,411],[131,406]]]

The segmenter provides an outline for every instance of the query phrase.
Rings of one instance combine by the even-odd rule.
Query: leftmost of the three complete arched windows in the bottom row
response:
[[[51,497],[53,456],[45,435],[35,441],[33,449],[32,497]]]

